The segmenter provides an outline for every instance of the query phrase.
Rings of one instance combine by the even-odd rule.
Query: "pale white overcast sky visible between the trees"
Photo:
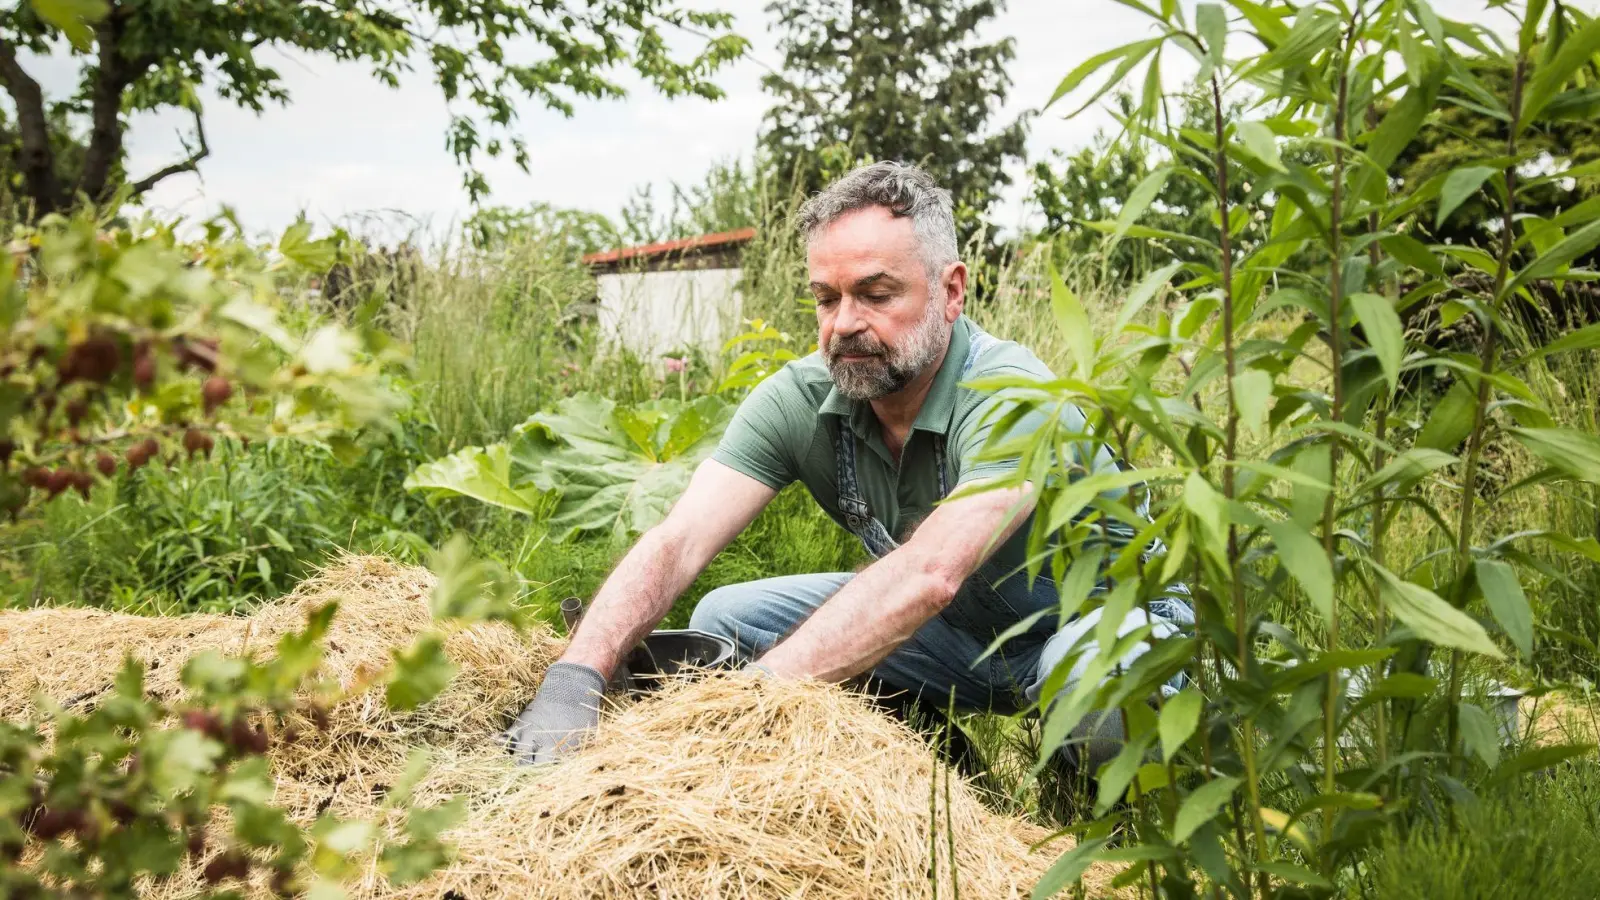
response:
[[[720,101],[666,99],[635,86],[622,101],[579,102],[573,119],[523,102],[518,130],[528,141],[528,173],[509,162],[488,162],[488,202],[547,202],[614,215],[637,184],[698,179],[718,159],[749,155],[768,96],[763,66],[779,64],[768,32],[766,0],[706,0],[738,16],[736,30],[752,42],[750,58],[723,69]],[[704,3],[699,3],[704,5]],[[1187,3],[1186,3],[1187,5]],[[1461,14],[1480,3],[1446,0]],[[1006,115],[1037,109],[1061,77],[1088,56],[1144,37],[1149,21],[1110,0],[1010,0],[982,35],[1016,38],[1016,61]],[[256,115],[219,99],[206,99],[211,155],[200,175],[163,181],[149,205],[184,216],[206,216],[232,205],[245,224],[275,231],[301,210],[314,221],[400,210],[442,232],[469,215],[461,170],[443,147],[446,106],[426,74],[398,90],[378,83],[368,69],[326,58],[267,51],[285,78],[291,102]],[[1163,70],[1182,54],[1168,54]],[[66,88],[72,70],[61,61],[32,61],[46,88]],[[1181,78],[1192,72],[1168,72]],[[624,78],[627,83],[637,83]],[[1102,110],[1062,120],[1061,110],[1035,120],[1029,159],[1051,149],[1086,144],[1109,123]],[[130,173],[139,176],[181,159],[179,131],[187,114],[146,114],[131,127]],[[1002,227],[1026,215],[1026,176],[997,210]],[[659,192],[659,189],[658,189]]]

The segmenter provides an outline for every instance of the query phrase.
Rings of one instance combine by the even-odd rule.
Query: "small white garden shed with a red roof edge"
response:
[[[584,256],[605,340],[646,359],[691,348],[720,352],[738,333],[739,258],[752,237],[755,229],[744,227]]]

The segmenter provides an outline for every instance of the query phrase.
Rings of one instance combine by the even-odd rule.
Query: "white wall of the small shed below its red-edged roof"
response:
[[[685,346],[717,357],[722,343],[739,333],[739,269],[619,272],[595,280],[600,333],[642,357],[658,359]]]

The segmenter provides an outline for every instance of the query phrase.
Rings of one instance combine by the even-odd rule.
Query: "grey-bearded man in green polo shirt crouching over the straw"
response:
[[[914,167],[874,163],[806,202],[798,224],[819,351],[750,392],[666,520],[600,588],[509,732],[518,759],[555,759],[581,743],[618,663],[795,480],[875,562],[859,573],[731,585],[701,599],[690,625],[731,637],[768,676],[862,676],[941,706],[954,695],[958,708],[1014,711],[1037,701],[1056,663],[1093,633],[1098,612],[1064,626],[1045,615],[978,661],[998,633],[1054,610],[1058,594],[1050,578],[1030,586],[1018,573],[1030,488],[963,492],[941,503],[1016,466],[979,458],[1003,400],[962,383],[1051,373],[962,314],[968,271],[957,256],[949,192]],[[1101,452],[1091,468],[1107,466],[1115,461]],[[1181,602],[1162,612],[1189,620]],[[1120,633],[1144,623],[1134,610]],[[1160,634],[1176,626],[1154,625]]]

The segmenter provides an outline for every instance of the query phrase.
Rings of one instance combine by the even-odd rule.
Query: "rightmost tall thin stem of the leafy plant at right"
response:
[[[1472,525],[1478,495],[1478,458],[1483,453],[1483,431],[1490,405],[1490,378],[1499,356],[1499,296],[1510,275],[1512,250],[1517,243],[1514,231],[1517,210],[1517,127],[1522,120],[1522,85],[1528,74],[1528,58],[1517,54],[1517,69],[1510,78],[1510,122],[1506,125],[1506,197],[1501,203],[1501,248],[1494,269],[1494,295],[1490,298],[1490,315],[1483,322],[1483,368],[1478,372],[1478,396],[1472,408],[1472,436],[1467,439],[1467,461],[1461,472],[1461,522],[1456,527],[1456,605],[1466,605],[1467,570],[1472,567]],[[1450,652],[1450,709],[1446,745],[1451,753],[1450,770],[1456,772],[1456,738],[1461,735],[1461,650]]]

